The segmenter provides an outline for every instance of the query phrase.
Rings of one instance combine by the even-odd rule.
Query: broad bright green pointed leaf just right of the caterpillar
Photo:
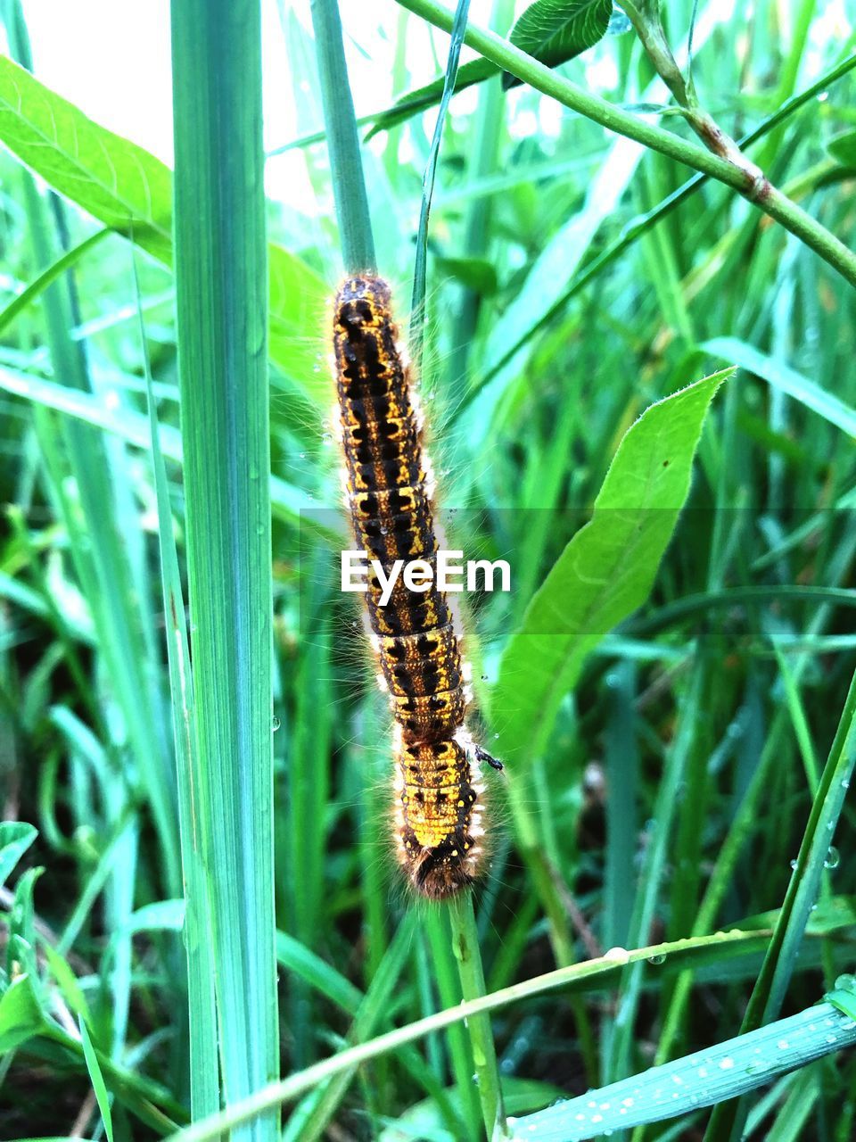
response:
[[[648,596],[687,492],[714,393],[732,372],[653,404],[622,440],[593,514],[535,593],[500,665],[491,708],[502,753],[539,756],[589,651]]]

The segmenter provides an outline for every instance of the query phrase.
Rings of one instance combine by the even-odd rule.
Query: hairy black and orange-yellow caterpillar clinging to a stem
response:
[[[434,477],[411,370],[398,344],[387,283],[348,278],[333,314],[333,368],[344,485],[357,547],[388,576],[396,560],[436,571]],[[436,574],[414,593],[401,578],[381,605],[366,578],[371,641],[394,718],[398,862],[420,894],[442,900],[471,885],[485,863],[479,763],[501,763],[466,726],[470,690],[455,620]]]

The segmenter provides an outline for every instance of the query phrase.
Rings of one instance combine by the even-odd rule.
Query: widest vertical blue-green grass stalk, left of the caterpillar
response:
[[[172,72],[196,810],[228,1104],[278,1072],[258,2],[175,0]],[[235,1137],[273,1140],[277,1117]]]

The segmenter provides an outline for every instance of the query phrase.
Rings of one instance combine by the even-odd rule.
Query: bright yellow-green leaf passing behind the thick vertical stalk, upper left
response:
[[[159,262],[172,264],[169,167],[92,122],[6,56],[0,56],[0,140],[54,190]],[[326,413],[329,384],[315,371],[316,347],[306,330],[318,328],[328,286],[274,244],[268,272],[270,359]]]

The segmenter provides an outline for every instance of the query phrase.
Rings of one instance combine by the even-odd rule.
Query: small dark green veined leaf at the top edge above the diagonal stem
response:
[[[548,67],[557,67],[606,35],[612,0],[535,0],[511,29],[509,39]],[[520,81],[508,72],[502,86]]]

